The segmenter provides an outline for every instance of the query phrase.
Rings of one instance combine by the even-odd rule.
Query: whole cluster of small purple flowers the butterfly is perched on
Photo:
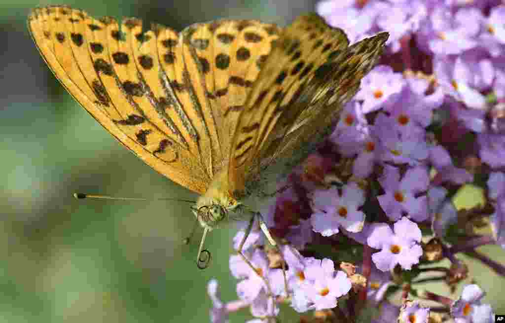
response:
[[[267,321],[285,302],[298,312],[331,309],[339,321],[374,306],[376,323],[493,322],[475,284],[457,300],[416,284],[426,281],[420,273],[442,273],[433,280],[455,287],[468,276],[459,252],[505,276],[504,265],[475,251],[505,249],[505,4],[324,0],[317,11],[351,42],[389,32],[387,49],[334,132],[262,213],[280,253],[254,229],[244,256],[255,269],[230,257],[239,300],[223,304],[212,283],[212,321],[244,306],[257,317],[249,322]],[[485,189],[486,203],[457,210],[452,197],[467,183]],[[492,236],[473,230],[483,218]],[[449,267],[432,266],[443,258]],[[401,304],[388,300],[394,291]]]

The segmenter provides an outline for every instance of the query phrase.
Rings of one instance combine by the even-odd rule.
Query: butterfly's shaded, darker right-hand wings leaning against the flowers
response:
[[[347,47],[345,33],[315,14],[286,27],[239,118],[229,167],[234,189],[243,190],[273,161],[305,156],[302,144],[335,121],[386,39],[382,33]]]

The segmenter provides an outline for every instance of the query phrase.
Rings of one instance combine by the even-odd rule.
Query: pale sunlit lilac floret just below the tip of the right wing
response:
[[[395,93],[399,93],[406,81],[401,73],[394,73],[390,66],[380,65],[363,77],[356,100],[363,100],[361,113],[379,110],[382,104]]]

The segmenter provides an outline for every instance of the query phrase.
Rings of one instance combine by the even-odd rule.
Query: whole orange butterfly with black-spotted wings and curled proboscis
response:
[[[275,245],[247,201],[272,195],[269,183],[329,133],[388,38],[349,46],[343,30],[314,13],[285,28],[224,19],[177,33],[51,6],[32,10],[28,27],[49,68],[98,123],[201,194],[192,207],[204,228],[197,262],[205,262],[207,232],[230,219],[249,217],[248,234],[258,217]]]

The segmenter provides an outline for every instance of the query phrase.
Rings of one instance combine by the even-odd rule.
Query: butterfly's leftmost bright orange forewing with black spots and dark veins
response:
[[[206,191],[211,177],[199,151],[185,140],[187,115],[169,116],[178,98],[170,90],[160,92],[135,62],[149,55],[155,68],[158,60],[153,44],[134,48],[139,21],[125,20],[120,29],[112,18],[96,20],[55,6],[33,10],[28,24],[46,63],[94,119],[159,173],[195,192]]]

